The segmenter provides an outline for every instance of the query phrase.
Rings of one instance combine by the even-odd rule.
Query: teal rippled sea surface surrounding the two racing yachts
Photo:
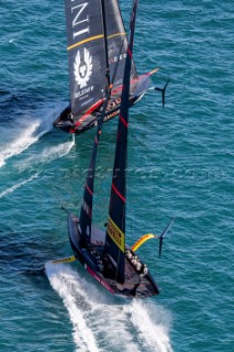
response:
[[[129,23],[131,1],[120,1]],[[134,57],[159,67],[130,116],[127,243],[160,295],[116,298],[71,255],[94,130],[53,128],[69,101],[64,2],[0,0],[0,351],[231,352],[234,332],[232,0],[140,1]],[[154,87],[170,77],[166,108]],[[99,148],[94,221],[103,227],[116,119]],[[26,275],[43,267],[46,276]]]

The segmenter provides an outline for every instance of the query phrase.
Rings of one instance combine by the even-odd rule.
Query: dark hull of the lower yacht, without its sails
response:
[[[112,264],[108,257],[104,257],[104,237],[105,232],[92,229],[93,238],[97,239],[90,245],[86,245],[78,232],[78,218],[68,215],[68,234],[71,249],[75,256],[85,266],[88,273],[94,277],[105,289],[113,295],[121,295],[127,298],[146,298],[158,295],[159,290],[152,275],[141,273],[133,265],[132,261],[125,256],[125,280],[118,283],[112,276]],[[96,231],[97,237],[96,237]],[[135,253],[126,248],[129,255],[135,256]],[[143,264],[140,260],[138,263]]]

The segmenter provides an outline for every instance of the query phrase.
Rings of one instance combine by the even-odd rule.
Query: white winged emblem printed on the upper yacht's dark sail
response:
[[[82,56],[81,58],[80,51],[78,51],[74,63],[75,79],[80,88],[87,87],[92,74],[92,56],[87,48],[83,48]]]

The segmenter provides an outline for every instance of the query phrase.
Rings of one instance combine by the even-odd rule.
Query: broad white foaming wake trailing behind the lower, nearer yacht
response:
[[[115,299],[68,264],[46,264],[73,323],[76,351],[172,352],[169,314],[155,302]]]

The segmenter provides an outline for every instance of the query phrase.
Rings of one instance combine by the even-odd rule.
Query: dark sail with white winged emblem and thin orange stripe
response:
[[[105,91],[100,0],[65,0],[71,112],[81,116]]]

